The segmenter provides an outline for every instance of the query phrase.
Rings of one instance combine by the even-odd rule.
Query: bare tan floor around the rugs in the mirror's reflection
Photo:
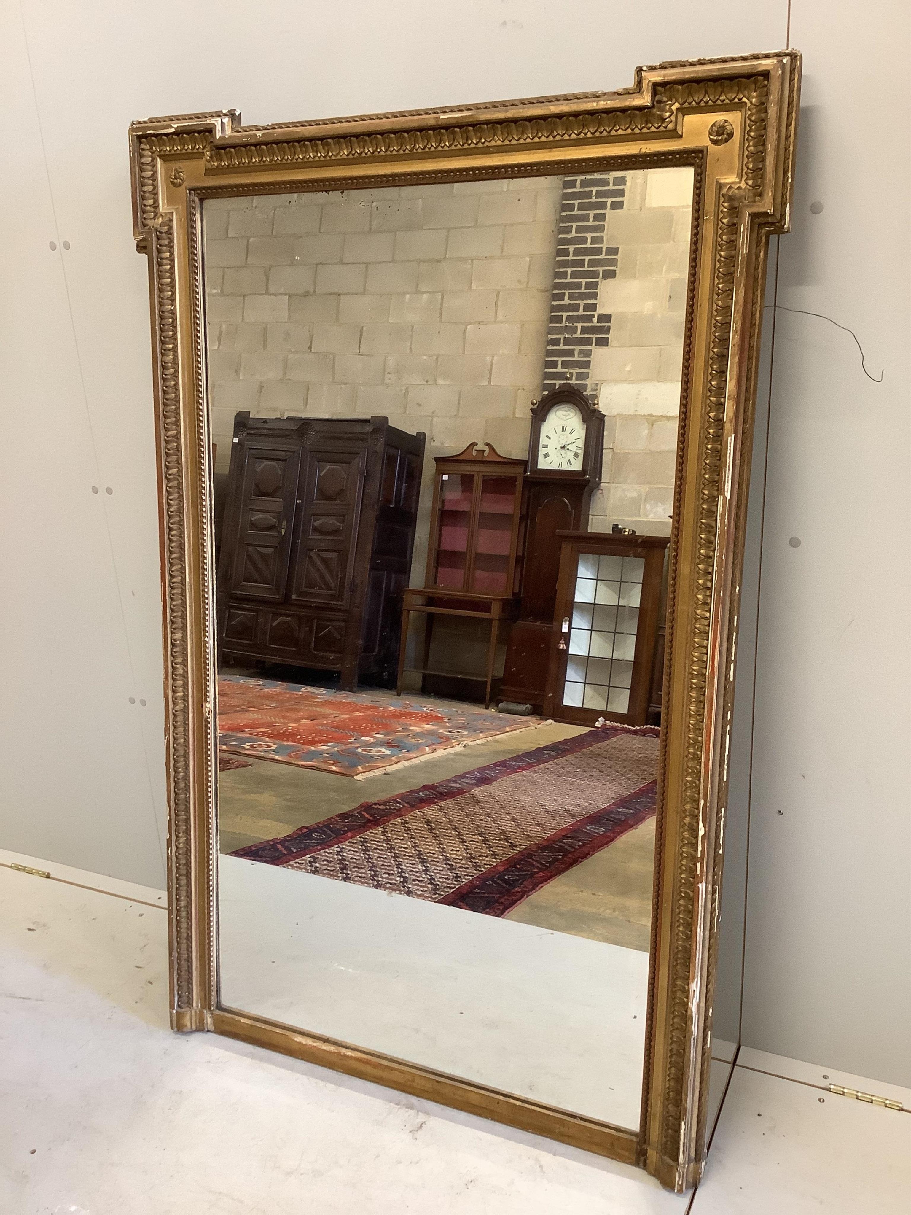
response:
[[[253,759],[249,768],[219,776],[220,850],[230,853],[287,835],[362,802],[394,797],[582,733],[579,727],[556,722],[532,725],[363,780]],[[548,882],[504,919],[647,951],[653,854],[655,820],[650,819]]]

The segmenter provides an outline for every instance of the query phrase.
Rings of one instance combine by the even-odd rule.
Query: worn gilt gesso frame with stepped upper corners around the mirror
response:
[[[794,52],[640,68],[632,89],[244,128],[233,112],[134,123],[149,265],[170,802],[171,1024],[213,1030],[692,1186],[705,1153],[732,668],[768,238],[785,232]],[[217,957],[215,575],[205,198],[692,166],[664,718],[638,1132],[222,1007]]]

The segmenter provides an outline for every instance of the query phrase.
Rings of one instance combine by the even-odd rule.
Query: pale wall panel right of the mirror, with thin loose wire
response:
[[[853,328],[883,383],[849,334],[779,313],[743,1000],[747,1045],[904,1085],[911,192],[883,81],[907,73],[907,18],[904,0],[792,7],[805,58],[779,304]]]

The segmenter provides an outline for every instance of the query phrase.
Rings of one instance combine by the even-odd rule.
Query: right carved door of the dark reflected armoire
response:
[[[343,609],[350,595],[366,452],[311,450],[306,458],[290,598]]]

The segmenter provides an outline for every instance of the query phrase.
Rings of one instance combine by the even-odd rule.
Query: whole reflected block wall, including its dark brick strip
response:
[[[426,431],[412,573],[421,584],[432,457],[473,440],[524,457],[532,400],[571,378],[607,416],[592,529],[667,535],[691,176],[635,170],[206,200],[219,469],[238,409],[384,414]]]

